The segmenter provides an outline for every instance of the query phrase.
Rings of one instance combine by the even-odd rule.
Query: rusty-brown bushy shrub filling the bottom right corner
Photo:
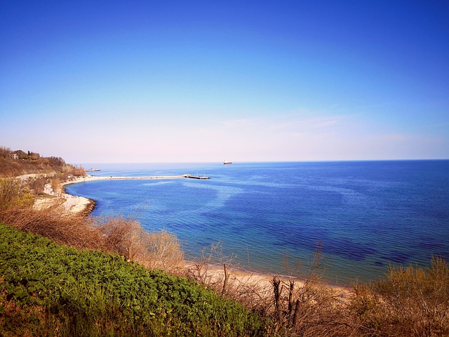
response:
[[[449,336],[449,265],[389,267],[384,279],[358,289],[352,310],[361,331],[376,335]]]

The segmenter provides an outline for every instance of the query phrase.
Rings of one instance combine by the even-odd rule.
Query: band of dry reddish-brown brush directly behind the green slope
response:
[[[77,249],[119,253],[149,268],[174,270],[184,254],[177,238],[166,231],[146,232],[133,218],[86,218],[58,205],[46,209],[15,207],[0,211],[0,222]]]

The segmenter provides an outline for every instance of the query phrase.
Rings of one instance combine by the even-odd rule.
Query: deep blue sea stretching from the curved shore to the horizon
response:
[[[175,234],[189,260],[332,284],[380,279],[389,266],[449,258],[449,160],[83,164],[93,176],[192,174],[210,179],[96,180],[67,185]],[[314,258],[320,256],[318,268]]]

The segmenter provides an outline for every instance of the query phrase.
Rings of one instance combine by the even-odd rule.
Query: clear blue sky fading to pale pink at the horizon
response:
[[[101,162],[449,158],[449,2],[0,1],[0,145]]]

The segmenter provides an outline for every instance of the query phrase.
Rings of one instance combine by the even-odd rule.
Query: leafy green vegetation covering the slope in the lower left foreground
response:
[[[196,282],[0,224],[0,336],[262,336]]]

